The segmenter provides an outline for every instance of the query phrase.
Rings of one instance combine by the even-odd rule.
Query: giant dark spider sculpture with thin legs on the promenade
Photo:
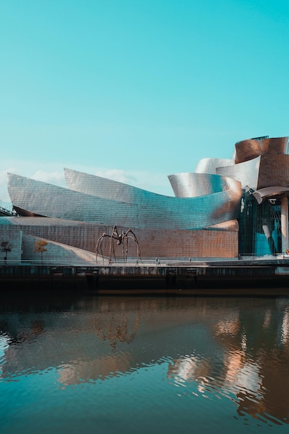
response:
[[[131,235],[130,235],[131,234]],[[112,229],[112,234],[108,235],[105,232],[98,238],[98,241],[96,243],[96,261],[98,257],[98,253],[100,252],[101,256],[103,257],[103,239],[109,236],[110,237],[110,262],[112,261],[112,256],[114,257],[114,261],[116,261],[116,254],[114,250],[114,240],[116,240],[116,245],[121,245],[123,248],[123,261],[126,262],[128,259],[128,240],[131,238],[135,243],[137,243],[137,263],[139,259],[141,260],[141,254],[139,252],[139,241],[137,241],[137,236],[135,236],[134,232],[132,232],[132,229],[128,229],[126,232],[121,232],[119,234],[117,227],[114,226]]]

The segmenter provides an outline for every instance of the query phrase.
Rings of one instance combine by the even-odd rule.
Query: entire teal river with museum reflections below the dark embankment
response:
[[[288,433],[289,298],[1,296],[0,433]]]

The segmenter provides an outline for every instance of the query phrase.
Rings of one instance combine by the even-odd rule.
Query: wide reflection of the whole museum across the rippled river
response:
[[[0,379],[55,368],[60,389],[166,365],[170,387],[289,422],[288,298],[96,298],[0,313]],[[148,380],[149,381],[149,380]],[[153,387],[152,387],[153,390]]]

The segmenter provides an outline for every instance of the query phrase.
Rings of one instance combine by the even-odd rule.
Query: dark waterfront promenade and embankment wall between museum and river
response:
[[[289,257],[128,263],[0,262],[1,288],[99,295],[289,295]]]

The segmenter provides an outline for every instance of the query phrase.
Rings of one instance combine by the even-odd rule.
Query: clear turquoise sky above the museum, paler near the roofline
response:
[[[6,173],[166,175],[289,134],[288,0],[0,0]]]

